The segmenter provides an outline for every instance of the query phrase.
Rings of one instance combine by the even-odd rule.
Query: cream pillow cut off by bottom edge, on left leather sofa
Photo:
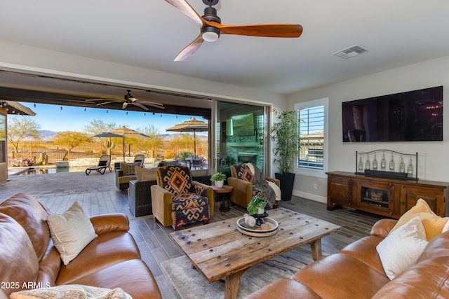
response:
[[[11,294],[11,299],[133,299],[121,288],[97,288],[80,284],[63,284],[51,288],[34,288]]]

